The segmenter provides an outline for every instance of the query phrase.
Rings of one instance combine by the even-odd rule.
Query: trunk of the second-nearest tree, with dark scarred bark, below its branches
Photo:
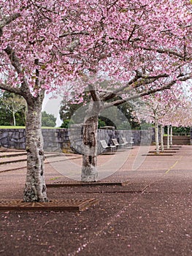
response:
[[[96,181],[98,176],[97,165],[97,129],[99,103],[92,102],[83,124],[82,137],[82,170],[81,180]]]

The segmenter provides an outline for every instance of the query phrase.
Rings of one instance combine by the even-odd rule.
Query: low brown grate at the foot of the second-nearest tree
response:
[[[46,184],[46,187],[96,187],[96,186],[125,186],[127,181],[90,181],[90,182],[64,182],[57,181],[52,184]]]

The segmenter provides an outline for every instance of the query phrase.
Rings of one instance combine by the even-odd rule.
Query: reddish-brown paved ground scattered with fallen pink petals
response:
[[[88,211],[1,213],[0,255],[192,255],[192,146],[172,157],[144,157],[140,150],[99,157],[104,180],[127,181],[124,187],[47,189],[50,199],[97,198]],[[78,176],[80,162],[47,161],[47,183]],[[0,198],[22,197],[25,176],[24,167],[1,172]]]

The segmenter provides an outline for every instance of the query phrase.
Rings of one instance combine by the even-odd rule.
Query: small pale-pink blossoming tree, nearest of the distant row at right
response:
[[[172,89],[143,97],[142,100],[132,103],[135,115],[139,120],[154,124],[156,154],[160,154],[159,142],[161,142],[161,151],[164,151],[164,125],[168,120],[171,124],[173,118],[170,117],[177,113],[178,108],[184,108],[185,102],[186,97],[182,88],[173,86]],[[159,133],[161,135],[160,141]]]

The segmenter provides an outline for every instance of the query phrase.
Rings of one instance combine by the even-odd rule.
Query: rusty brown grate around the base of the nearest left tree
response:
[[[85,211],[96,203],[98,203],[98,200],[94,198],[85,200],[50,200],[50,202],[45,203],[26,203],[23,200],[0,200],[0,211]]]

